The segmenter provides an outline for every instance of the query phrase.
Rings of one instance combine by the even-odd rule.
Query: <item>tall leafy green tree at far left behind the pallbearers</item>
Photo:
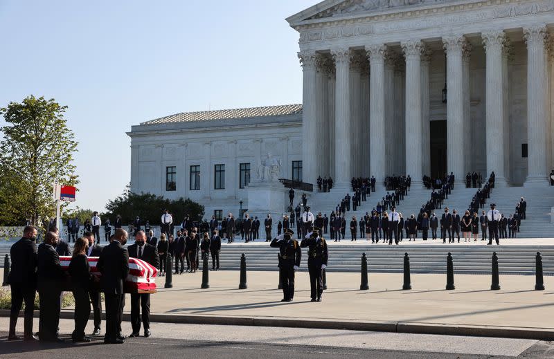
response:
[[[40,226],[55,216],[53,183],[76,185],[73,154],[77,142],[67,127],[66,106],[30,95],[0,109],[8,123],[0,129],[0,198],[8,210],[0,212],[0,224]],[[10,213],[6,213],[10,212]]]

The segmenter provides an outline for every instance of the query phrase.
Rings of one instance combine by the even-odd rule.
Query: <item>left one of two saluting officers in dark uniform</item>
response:
[[[294,232],[286,229],[283,234],[275,237],[269,246],[279,248],[279,275],[283,282],[283,299],[281,302],[292,302],[294,297],[294,271],[300,266],[302,251],[298,241],[292,238]]]

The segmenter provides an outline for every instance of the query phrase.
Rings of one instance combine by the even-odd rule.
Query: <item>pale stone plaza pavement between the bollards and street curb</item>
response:
[[[161,277],[151,320],[554,338],[554,277],[544,277],[545,291],[534,291],[534,276],[501,275],[501,290],[490,291],[489,275],[456,275],[456,290],[445,291],[446,275],[418,274],[411,276],[413,289],[402,291],[402,274],[370,273],[370,290],[359,291],[359,274],[328,273],[323,302],[314,303],[308,275],[300,272],[294,302],[282,303],[277,272],[248,272],[246,290],[238,289],[239,276],[210,272],[208,289],[200,288],[201,271],[173,275],[173,288],[167,289]]]

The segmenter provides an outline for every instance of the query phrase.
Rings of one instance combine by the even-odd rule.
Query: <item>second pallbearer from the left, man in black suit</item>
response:
[[[40,297],[39,340],[44,342],[63,342],[57,338],[60,323],[60,294],[67,277],[60,264],[60,256],[54,249],[57,246],[57,234],[47,232],[37,250],[37,287]]]

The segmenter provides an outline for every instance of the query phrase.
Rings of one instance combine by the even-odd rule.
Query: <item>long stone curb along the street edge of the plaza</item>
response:
[[[10,311],[0,310],[0,317],[9,317]],[[20,315],[23,316],[23,313]],[[39,311],[35,311],[35,317]],[[73,311],[63,309],[60,318],[73,319]],[[92,319],[92,313],[91,313]],[[105,320],[105,313],[102,313]],[[123,314],[123,320],[130,320],[129,313]],[[458,324],[435,324],[419,322],[379,322],[364,320],[318,320],[307,318],[285,318],[285,317],[240,317],[240,316],[211,316],[211,315],[175,315],[150,313],[150,322],[172,323],[172,324],[211,324],[211,325],[238,325],[238,326],[278,326],[289,328],[305,329],[339,329],[350,331],[382,331],[388,333],[410,333],[410,334],[435,334],[435,335],[463,335],[473,337],[512,338],[512,339],[533,339],[553,340],[554,329],[529,328],[519,326],[486,326],[486,325],[458,325]]]

